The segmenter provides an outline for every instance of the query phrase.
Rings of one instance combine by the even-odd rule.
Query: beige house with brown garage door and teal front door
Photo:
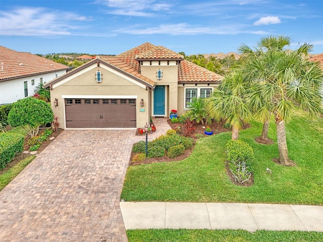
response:
[[[101,55],[45,85],[63,129],[142,128],[150,116],[183,114],[223,77],[163,46],[144,43]],[[57,99],[57,102],[54,101]]]

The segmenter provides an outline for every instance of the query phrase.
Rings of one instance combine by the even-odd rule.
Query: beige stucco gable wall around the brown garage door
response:
[[[100,71],[102,74],[102,82],[97,83],[95,74]],[[80,74],[81,73],[81,74]],[[78,76],[77,76],[78,75]],[[126,80],[126,79],[130,79]],[[139,84],[139,85],[138,85]],[[118,73],[113,69],[101,65],[97,67],[96,63],[93,66],[82,70],[57,84],[52,85],[51,106],[54,114],[59,117],[61,128],[65,129],[65,109],[64,109],[64,96],[69,95],[86,95],[92,96],[88,98],[95,98],[95,96],[104,96],[97,98],[109,98],[105,96],[114,96],[114,98],[127,98],[126,96],[136,95],[136,126],[137,128],[144,127],[146,122],[149,122],[149,108],[148,108],[148,90],[144,84]],[[120,96],[120,97],[118,97]],[[58,99],[59,105],[55,107],[53,101]],[[141,107],[141,98],[144,99],[144,106]],[[145,109],[140,112],[139,109]]]

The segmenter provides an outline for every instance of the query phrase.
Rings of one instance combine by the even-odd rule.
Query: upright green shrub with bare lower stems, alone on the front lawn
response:
[[[251,177],[251,164],[254,160],[252,148],[241,140],[231,140],[226,145],[229,170],[238,183],[244,183]]]

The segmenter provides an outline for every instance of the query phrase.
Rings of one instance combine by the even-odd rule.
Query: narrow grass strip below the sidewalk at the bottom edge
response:
[[[323,233],[306,231],[207,230],[207,229],[137,229],[127,230],[129,242],[194,241],[194,242],[318,242]]]

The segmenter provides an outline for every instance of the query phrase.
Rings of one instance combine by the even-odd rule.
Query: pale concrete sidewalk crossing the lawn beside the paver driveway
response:
[[[120,202],[126,229],[187,228],[323,232],[323,206]]]

